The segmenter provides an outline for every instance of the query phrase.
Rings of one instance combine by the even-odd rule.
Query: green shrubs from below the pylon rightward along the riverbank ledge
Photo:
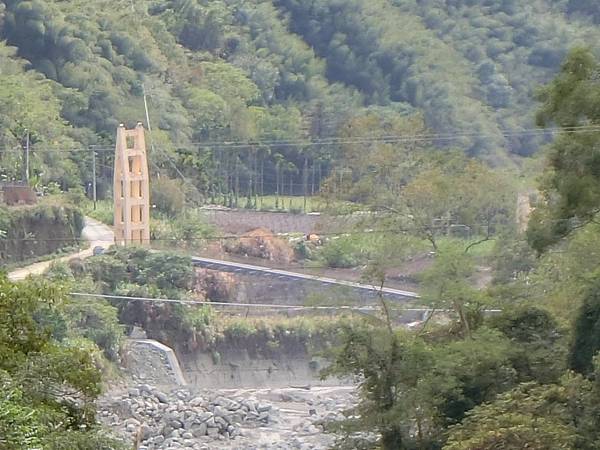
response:
[[[78,291],[180,299],[182,303],[147,303],[82,298],[65,307],[68,328],[94,342],[110,361],[118,361],[125,327],[139,326],[150,337],[182,351],[226,351],[242,345],[251,354],[307,352],[312,346],[326,348],[336,342],[342,324],[357,322],[345,315],[325,317],[230,318],[208,305],[186,305],[202,300],[201,280],[188,257],[142,248],[113,248],[85,261],[54,264],[50,279]],[[207,299],[208,301],[210,299]],[[117,319],[118,318],[118,319]]]

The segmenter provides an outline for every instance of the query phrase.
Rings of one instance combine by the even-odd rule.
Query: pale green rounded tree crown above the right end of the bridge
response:
[[[399,195],[387,192],[389,204],[376,203],[387,227],[410,232],[438,249],[442,236],[465,238],[465,250],[513,226],[516,195],[510,176],[460,154],[440,161],[424,158]]]

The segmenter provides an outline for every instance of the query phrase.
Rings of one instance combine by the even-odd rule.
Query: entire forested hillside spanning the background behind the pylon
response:
[[[95,145],[102,192],[115,127],[145,122],[145,91],[152,170],[197,198],[314,191],[344,157],[323,139],[398,129],[494,164],[531,155],[536,88],[600,42],[589,0],[1,5],[0,178],[21,177],[29,133],[34,183],[88,182]]]

